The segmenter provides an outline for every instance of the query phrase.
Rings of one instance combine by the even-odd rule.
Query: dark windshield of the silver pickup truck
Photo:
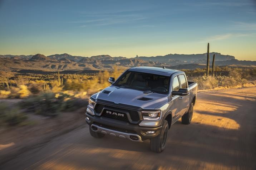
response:
[[[170,77],[157,74],[126,71],[115,81],[114,86],[123,86],[143,91],[168,94]]]

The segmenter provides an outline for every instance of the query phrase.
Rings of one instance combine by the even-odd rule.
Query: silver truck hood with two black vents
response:
[[[150,100],[139,100],[142,97],[149,98]],[[159,105],[168,101],[167,94],[144,94],[142,91],[138,91],[135,89],[118,88],[115,86],[109,86],[102,91],[93,94],[92,98],[114,102],[115,104],[127,104],[137,106],[141,107],[142,109],[158,109],[157,107]]]

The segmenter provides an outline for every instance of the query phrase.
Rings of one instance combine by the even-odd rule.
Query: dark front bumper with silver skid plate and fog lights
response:
[[[122,122],[97,115],[85,114],[90,120],[86,119],[90,128],[99,133],[117,136],[119,138],[129,139],[132,141],[144,141],[159,135],[162,126],[159,127],[142,127],[136,124]],[[155,131],[154,134],[144,134],[143,131]],[[137,138],[136,138],[137,137]],[[137,139],[137,140],[135,140]]]

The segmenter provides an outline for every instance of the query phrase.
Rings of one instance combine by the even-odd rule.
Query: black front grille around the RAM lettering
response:
[[[101,111],[102,111],[104,106],[105,106],[104,104],[97,103],[95,105],[95,107],[94,107],[94,111],[96,113],[101,113]],[[110,108],[110,109],[111,108],[113,108],[113,109],[121,109],[121,110],[123,110],[125,112],[128,112],[130,114],[130,117],[131,117],[132,121],[134,121],[134,122],[138,122],[139,121],[139,113],[136,110],[117,108],[117,107],[113,107],[113,106],[109,106],[109,105],[107,105],[107,107]],[[111,110],[109,110],[109,111],[111,111]],[[122,117],[122,118],[120,118],[121,116],[111,115],[111,114],[109,114],[109,113],[107,114],[105,112],[103,112],[103,114],[102,114],[102,116],[104,116],[104,117],[108,117],[108,118],[112,118],[112,119],[117,119],[117,120],[122,119],[122,121],[129,122],[129,120],[127,118],[127,115],[125,113],[124,113],[124,117]]]

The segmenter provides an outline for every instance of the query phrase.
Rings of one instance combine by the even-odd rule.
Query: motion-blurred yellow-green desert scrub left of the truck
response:
[[[109,86],[110,76],[117,78],[124,70],[98,74],[9,74],[0,73],[1,125],[22,124],[29,114],[56,117],[87,106],[88,96]],[[20,99],[15,107],[9,100]],[[22,110],[22,112],[21,112]]]

